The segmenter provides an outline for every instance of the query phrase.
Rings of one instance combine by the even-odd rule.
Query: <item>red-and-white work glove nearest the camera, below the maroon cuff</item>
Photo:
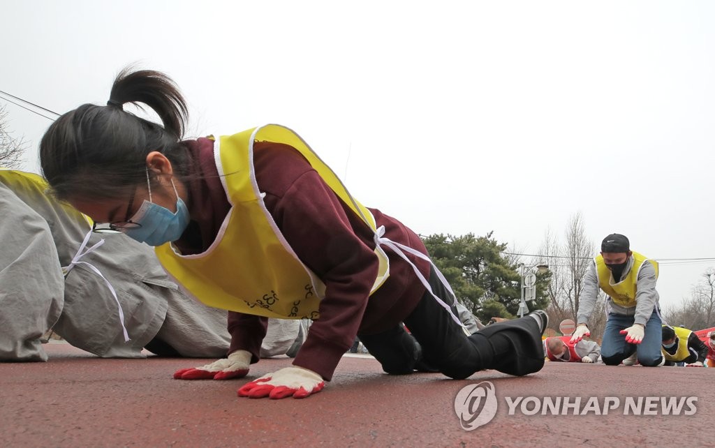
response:
[[[305,398],[310,394],[317,394],[323,387],[325,387],[325,382],[322,377],[312,370],[302,367],[285,367],[244,384],[238,389],[238,396],[273,399]]]

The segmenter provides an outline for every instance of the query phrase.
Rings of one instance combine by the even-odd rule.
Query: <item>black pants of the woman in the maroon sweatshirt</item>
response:
[[[430,272],[429,284],[457,316],[454,298],[434,270]],[[390,374],[412,373],[419,363],[433,366],[454,379],[464,379],[482,369],[521,376],[543,367],[541,332],[531,317],[492,324],[467,336],[430,292],[425,292],[415,310],[405,318],[405,325],[411,335],[402,324],[379,334],[358,335],[368,352]]]

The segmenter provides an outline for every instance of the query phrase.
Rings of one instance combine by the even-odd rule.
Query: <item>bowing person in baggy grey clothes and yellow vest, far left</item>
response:
[[[152,248],[120,235],[92,234],[87,248],[104,243],[77,259],[92,226],[45,189],[40,176],[0,170],[0,361],[46,361],[48,329],[99,357],[225,356],[225,311],[189,299]]]

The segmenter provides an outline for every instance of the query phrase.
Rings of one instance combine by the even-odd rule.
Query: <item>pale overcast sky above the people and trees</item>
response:
[[[711,1],[0,5],[0,90],[52,111],[104,104],[138,61],[182,88],[191,136],[289,126],[420,234],[533,253],[580,211],[594,249],[715,257]],[[37,171],[50,121],[0,105]],[[661,262],[661,303],[711,266]]]

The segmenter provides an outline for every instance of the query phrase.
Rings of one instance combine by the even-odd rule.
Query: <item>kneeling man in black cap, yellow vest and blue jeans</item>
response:
[[[642,366],[663,365],[656,279],[658,262],[631,251],[625,236],[608,235],[583,279],[578,326],[571,341],[591,334],[587,323],[600,288],[608,294],[608,320],[601,343],[603,363],[618,365],[636,352]]]

